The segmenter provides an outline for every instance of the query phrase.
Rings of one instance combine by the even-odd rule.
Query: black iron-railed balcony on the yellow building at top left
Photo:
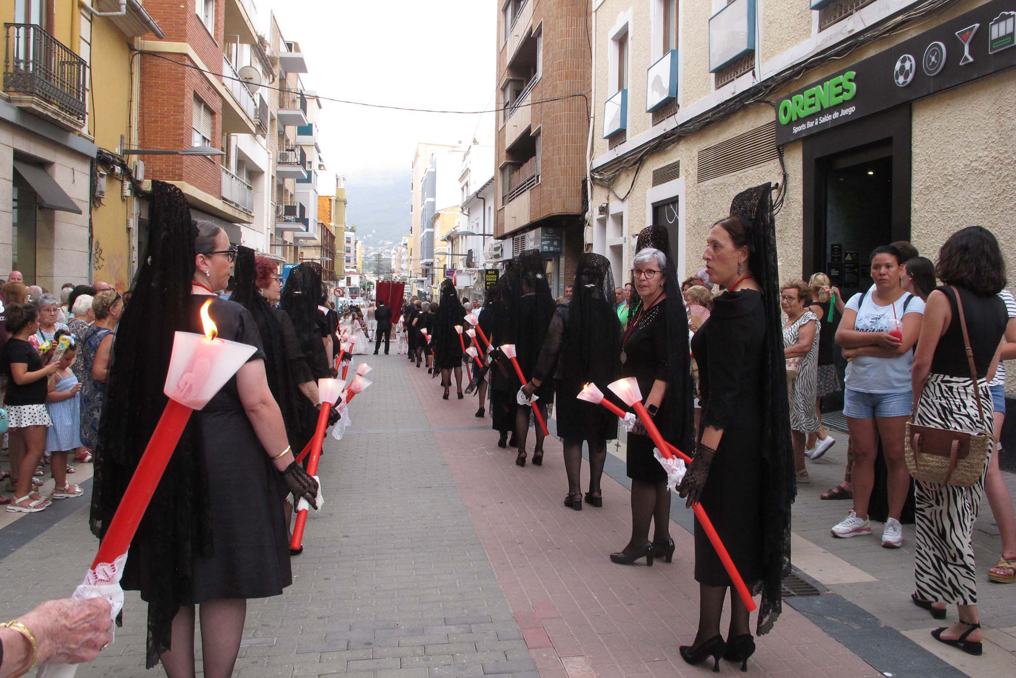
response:
[[[67,130],[84,123],[87,63],[33,23],[5,23],[4,90],[14,106]]]

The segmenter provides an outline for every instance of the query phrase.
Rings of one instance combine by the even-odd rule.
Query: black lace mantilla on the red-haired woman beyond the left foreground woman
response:
[[[298,453],[310,439],[313,431],[307,431],[307,407],[310,400],[301,392],[298,384],[312,381],[310,367],[303,354],[290,317],[276,313],[267,300],[257,291],[255,285],[254,250],[240,246],[234,276],[237,284],[230,297],[248,311],[257,323],[264,349],[264,371],[268,388],[275,396],[285,424],[285,437],[290,446]],[[294,347],[294,344],[297,346]],[[296,349],[296,350],[294,350]]]

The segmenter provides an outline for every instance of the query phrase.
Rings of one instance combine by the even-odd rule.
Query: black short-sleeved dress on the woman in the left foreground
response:
[[[209,298],[192,297],[195,319]],[[262,360],[261,336],[250,312],[235,302],[211,299],[208,312],[218,336],[257,347],[250,360]],[[203,410],[191,415],[188,430],[201,437],[204,449],[210,549],[194,553],[189,562],[175,563],[177,576],[190,582],[185,600],[160,602],[179,607],[220,598],[278,596],[293,582],[282,513],[287,489],[247,418],[235,376]],[[163,543],[169,535],[145,534],[144,526],[142,520],[131,545],[123,588],[140,590],[141,597],[150,600],[158,590],[152,577],[161,576],[167,566],[172,568],[151,559],[162,560],[178,549]]]

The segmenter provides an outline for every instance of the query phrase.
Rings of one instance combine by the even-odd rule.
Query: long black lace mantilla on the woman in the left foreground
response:
[[[179,188],[152,183],[148,249],[117,329],[96,450],[88,523],[102,539],[166,407],[174,332],[191,329],[194,241]],[[147,667],[170,648],[173,617],[189,600],[190,563],[211,553],[200,421],[192,418],[131,543],[124,588],[148,602]]]

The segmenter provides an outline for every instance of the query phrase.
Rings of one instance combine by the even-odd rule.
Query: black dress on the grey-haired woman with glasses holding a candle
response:
[[[666,316],[663,304],[650,308],[638,318],[629,318],[629,332],[624,341],[624,363],[622,377],[635,377],[642,398],[649,395],[652,383],[657,379],[665,381],[669,376],[666,359]],[[701,331],[701,330],[700,330]],[[670,388],[653,417],[653,422],[664,440],[674,440],[675,397]],[[652,454],[655,447],[652,439],[638,433],[628,434],[628,477],[645,483],[659,483],[666,480],[666,472]]]

